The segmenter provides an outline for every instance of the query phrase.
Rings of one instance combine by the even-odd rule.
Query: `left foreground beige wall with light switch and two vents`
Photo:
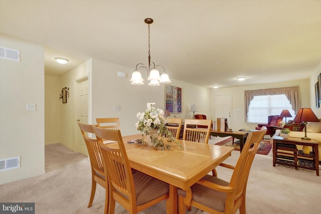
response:
[[[21,168],[0,172],[0,183],[45,173],[44,47],[0,36],[2,47],[20,50],[21,61],[0,59],[0,159],[21,157]],[[36,111],[27,111],[36,103]]]

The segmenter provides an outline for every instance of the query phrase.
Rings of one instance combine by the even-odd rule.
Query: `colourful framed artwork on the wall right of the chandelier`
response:
[[[165,110],[182,113],[182,88],[165,85]]]

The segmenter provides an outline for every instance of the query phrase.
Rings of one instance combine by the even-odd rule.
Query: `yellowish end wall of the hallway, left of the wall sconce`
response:
[[[45,75],[45,144],[60,142],[60,77]]]

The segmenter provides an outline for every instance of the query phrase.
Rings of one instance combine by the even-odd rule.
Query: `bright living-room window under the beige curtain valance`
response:
[[[279,115],[283,109],[289,110],[292,115],[292,117],[286,118],[287,121],[295,117],[295,112],[292,110],[292,106],[284,94],[254,96],[249,105],[247,122],[267,123],[269,115]]]

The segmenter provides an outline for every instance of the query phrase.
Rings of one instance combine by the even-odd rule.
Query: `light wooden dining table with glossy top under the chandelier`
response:
[[[170,184],[167,213],[178,213],[177,188],[186,191],[185,204],[190,205],[191,186],[227,159],[234,148],[178,140],[183,146],[159,150],[147,144],[127,143],[141,134],[123,136],[130,167]],[[117,146],[111,143],[109,146]]]

